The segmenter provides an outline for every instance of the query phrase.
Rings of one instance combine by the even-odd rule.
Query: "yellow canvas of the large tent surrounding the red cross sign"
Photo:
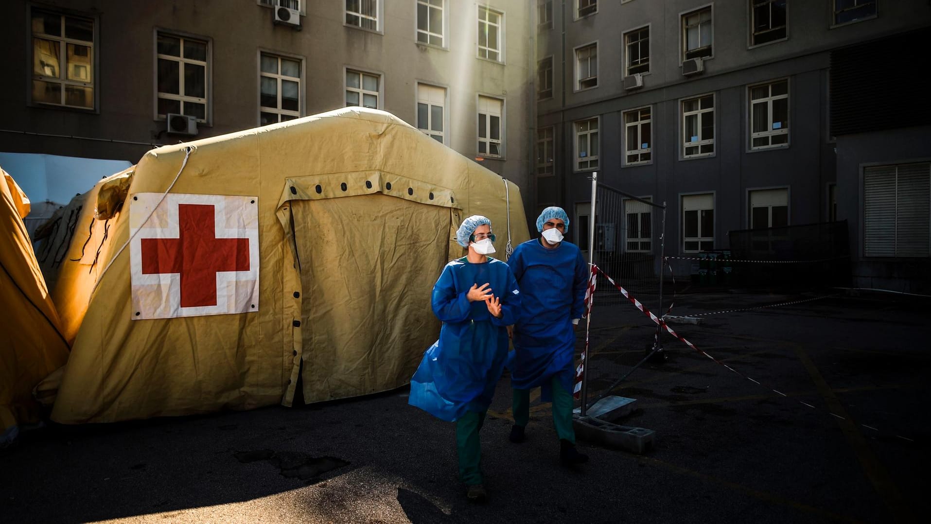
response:
[[[128,209],[132,195],[167,192],[258,196],[255,313],[133,320]],[[381,111],[346,108],[151,151],[101,238],[83,313],[68,307],[83,317],[52,419],[290,405],[299,372],[307,402],[408,383],[439,333],[433,283],[463,255],[455,229],[475,213],[492,220],[501,258],[508,223],[514,246],[529,238],[514,183]],[[65,277],[83,242],[72,240],[56,296],[88,286]]]

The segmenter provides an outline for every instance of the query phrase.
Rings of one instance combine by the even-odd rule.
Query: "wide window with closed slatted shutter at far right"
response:
[[[863,169],[863,254],[931,256],[927,162]]]

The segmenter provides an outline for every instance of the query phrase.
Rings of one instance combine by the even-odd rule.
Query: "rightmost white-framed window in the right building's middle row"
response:
[[[789,80],[749,87],[750,149],[789,143]]]

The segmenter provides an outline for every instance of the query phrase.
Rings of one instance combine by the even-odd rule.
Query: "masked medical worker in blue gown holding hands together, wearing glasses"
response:
[[[433,287],[433,312],[443,325],[411,379],[412,406],[456,423],[459,477],[475,502],[486,497],[479,430],[505,367],[506,327],[520,308],[510,268],[488,256],[494,252],[491,226],[473,215],[456,232],[468,254],[446,264]]]

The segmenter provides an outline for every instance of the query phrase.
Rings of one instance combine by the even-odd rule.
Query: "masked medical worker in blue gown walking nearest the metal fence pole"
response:
[[[575,449],[573,431],[573,354],[575,325],[584,313],[588,264],[574,244],[562,239],[569,217],[562,208],[546,208],[536,219],[540,238],[514,249],[507,261],[520,288],[520,315],[513,328],[514,425],[510,440],[525,438],[530,420],[530,390],[541,388],[553,403],[553,424],[560,437],[562,464],[581,464],[588,456]]]

